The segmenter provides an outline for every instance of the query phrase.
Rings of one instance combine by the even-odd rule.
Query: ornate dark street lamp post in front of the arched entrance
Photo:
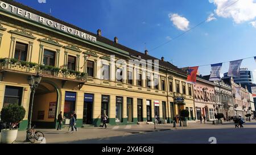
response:
[[[32,112],[33,112],[33,103],[34,103],[34,95],[35,95],[35,90],[38,87],[40,81],[42,79],[42,76],[39,76],[39,73],[36,73],[36,76],[29,76],[28,77],[28,84],[30,85],[30,89],[31,89],[31,94],[30,94],[30,106],[28,109],[28,124],[27,124],[27,128],[30,129],[31,128],[31,120],[32,120]],[[26,138],[26,140],[28,140]]]

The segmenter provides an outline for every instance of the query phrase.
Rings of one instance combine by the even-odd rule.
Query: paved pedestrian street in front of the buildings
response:
[[[178,124],[177,124],[178,125]],[[67,128],[61,131],[55,129],[38,129],[44,133],[46,143],[75,144],[171,144],[171,143],[211,143],[210,137],[216,137],[217,143],[255,143],[256,121],[246,122],[244,128],[234,128],[234,123],[213,125],[189,123],[189,127],[172,127],[172,124],[156,125],[116,125],[106,129],[99,127],[79,128],[77,132],[67,133]],[[1,135],[1,134],[0,134]],[[26,131],[19,131],[16,144],[24,143]]]

